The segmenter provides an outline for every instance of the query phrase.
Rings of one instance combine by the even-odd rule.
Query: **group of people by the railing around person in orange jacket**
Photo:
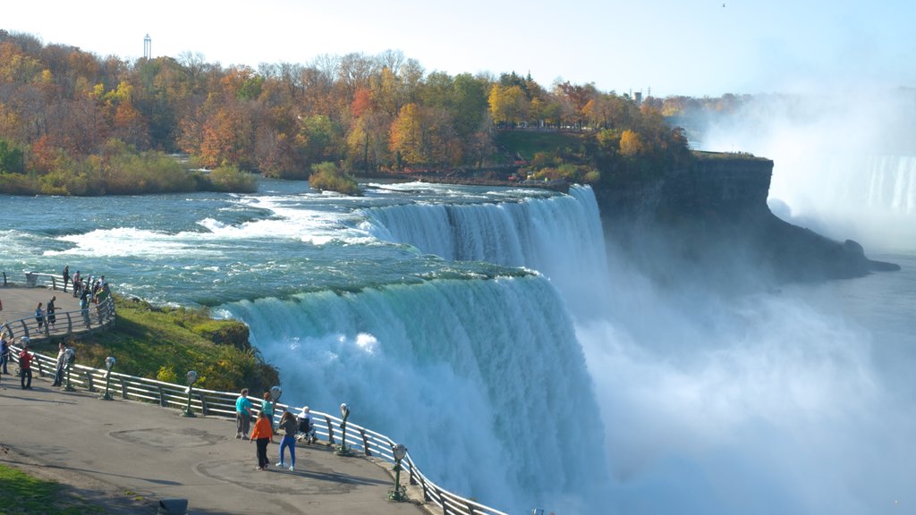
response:
[[[281,434],[280,461],[277,466],[286,468],[284,456],[289,449],[289,470],[296,470],[296,442],[304,439],[307,443],[314,442],[314,427],[311,423],[309,407],[302,408],[299,416],[292,411],[284,410],[280,417],[278,427],[273,424],[274,411],[277,401],[271,400],[270,392],[264,392],[261,409],[254,414],[254,406],[248,400],[248,389],[242,389],[238,399],[235,400],[235,438],[248,440],[248,429],[251,420],[255,419],[255,427],[251,432],[251,442],[256,444],[257,466],[256,470],[267,470],[270,460],[267,459],[267,445],[274,442],[274,434]]]

